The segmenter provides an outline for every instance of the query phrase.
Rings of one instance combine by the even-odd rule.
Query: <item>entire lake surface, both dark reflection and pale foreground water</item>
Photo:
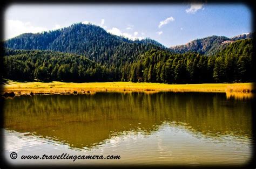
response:
[[[243,165],[253,148],[251,100],[223,93],[19,96],[5,99],[2,130],[16,165]],[[121,158],[21,159],[62,153]]]

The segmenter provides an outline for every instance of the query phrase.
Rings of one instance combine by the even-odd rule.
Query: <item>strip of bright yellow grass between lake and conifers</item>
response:
[[[209,83],[168,85],[164,83],[133,83],[133,82],[16,82],[8,80],[4,85],[3,93],[14,92],[16,95],[33,94],[69,94],[77,91],[79,94],[95,93],[96,91],[199,91],[222,93],[251,93],[253,83]]]

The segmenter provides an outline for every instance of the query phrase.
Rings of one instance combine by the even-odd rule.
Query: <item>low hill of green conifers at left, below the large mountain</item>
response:
[[[104,67],[88,58],[52,51],[5,50],[4,78],[20,81],[106,81]]]

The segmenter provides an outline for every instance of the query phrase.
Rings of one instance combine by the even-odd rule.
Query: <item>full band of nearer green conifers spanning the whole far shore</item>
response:
[[[150,49],[143,54],[130,44],[101,63],[82,55],[6,49],[4,78],[33,81],[132,81],[160,83],[248,82],[252,80],[251,39],[238,40],[217,55],[171,53]],[[137,48],[137,51],[134,50]],[[129,52],[130,54],[129,54]],[[129,57],[138,55],[138,57]]]

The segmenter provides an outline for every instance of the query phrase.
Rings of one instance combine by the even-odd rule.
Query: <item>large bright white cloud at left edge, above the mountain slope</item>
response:
[[[30,22],[8,19],[4,23],[4,40],[14,38],[23,33],[39,33],[47,30],[46,27],[33,26]]]

